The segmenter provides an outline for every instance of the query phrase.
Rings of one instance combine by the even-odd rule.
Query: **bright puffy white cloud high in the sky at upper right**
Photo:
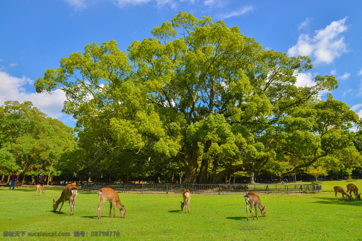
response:
[[[316,30],[316,35],[312,38],[308,34],[301,34],[298,42],[289,48],[289,55],[313,55],[316,63],[332,63],[342,53],[348,52],[342,35],[347,30],[346,18],[333,21],[324,29]]]

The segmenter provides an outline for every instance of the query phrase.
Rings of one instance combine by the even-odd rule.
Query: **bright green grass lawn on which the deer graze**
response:
[[[354,182],[360,190],[361,182]],[[362,202],[342,202],[339,193],[340,201],[335,201],[333,186],[346,184],[325,181],[323,193],[315,194],[259,194],[266,216],[255,221],[250,215],[247,221],[241,193],[193,194],[188,214],[181,212],[181,194],[119,193],[126,218],[117,208],[116,218],[109,218],[106,202],[98,220],[96,191],[79,190],[70,216],[68,203],[60,214],[52,208],[52,199],[57,200],[64,187],[44,187],[41,196],[35,195],[35,187],[3,187],[0,240],[361,240]],[[7,231],[23,231],[25,236],[4,237]],[[75,231],[87,236],[74,237]],[[94,231],[118,231],[119,237],[91,236]],[[70,237],[28,237],[30,232],[69,232]]]

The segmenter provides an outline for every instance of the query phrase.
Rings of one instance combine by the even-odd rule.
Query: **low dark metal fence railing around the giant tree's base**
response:
[[[135,184],[135,183],[104,183],[83,182],[82,189],[97,191],[101,188],[111,188],[115,191],[138,192],[169,192],[182,193],[189,189],[191,193],[303,193],[320,192],[321,185],[314,184]]]

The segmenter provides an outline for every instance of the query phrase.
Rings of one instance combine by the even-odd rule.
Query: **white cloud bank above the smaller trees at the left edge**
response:
[[[51,118],[62,121],[71,120],[70,116],[62,113],[63,103],[67,99],[63,91],[55,90],[52,95],[48,92],[41,94],[27,92],[24,86],[32,83],[33,81],[28,77],[17,78],[0,71],[0,106],[7,100],[17,100],[20,103],[31,101],[34,107],[39,108]]]

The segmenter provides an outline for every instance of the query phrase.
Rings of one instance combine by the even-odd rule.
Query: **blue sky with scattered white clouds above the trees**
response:
[[[153,27],[182,10],[239,26],[241,34],[266,48],[309,56],[314,68],[299,74],[297,85],[313,85],[316,75],[333,74],[339,82],[334,99],[362,117],[361,9],[362,1],[0,1],[0,105],[30,100],[74,127],[75,120],[61,112],[65,95],[37,94],[35,79],[88,43],[114,39],[127,50],[131,41],[151,38]]]

